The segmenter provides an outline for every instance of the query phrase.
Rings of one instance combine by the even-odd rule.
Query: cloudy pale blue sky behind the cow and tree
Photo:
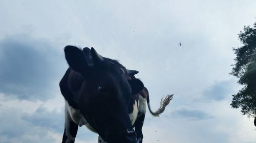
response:
[[[233,109],[241,86],[229,75],[243,25],[256,1],[0,1],[0,140],[61,142],[66,45],[94,47],[119,60],[150,92],[144,142],[247,142],[253,119]],[[181,43],[181,46],[179,45]],[[76,142],[96,142],[80,127]]]

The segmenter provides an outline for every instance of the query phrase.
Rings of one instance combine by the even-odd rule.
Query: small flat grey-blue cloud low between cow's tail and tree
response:
[[[187,120],[206,120],[213,118],[208,115],[208,113],[199,110],[199,109],[191,109],[189,107],[180,107],[170,113],[172,118],[182,118]]]

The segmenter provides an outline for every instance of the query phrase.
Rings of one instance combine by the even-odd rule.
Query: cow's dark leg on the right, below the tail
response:
[[[145,113],[143,113],[142,115],[137,117],[137,119],[134,123],[134,128],[135,128],[138,143],[141,143],[142,139],[143,139],[142,126],[143,126],[143,123],[144,123],[144,119],[145,119]]]

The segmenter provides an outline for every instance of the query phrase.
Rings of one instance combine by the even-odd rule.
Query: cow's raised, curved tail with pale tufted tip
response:
[[[145,88],[146,89],[146,88]],[[160,101],[160,107],[156,110],[156,111],[152,111],[151,107],[150,107],[150,95],[148,94],[148,91],[146,89],[147,92],[147,107],[148,110],[150,110],[150,113],[154,116],[154,117],[159,117],[159,115],[164,111],[165,107],[170,103],[170,100],[173,99],[173,94],[169,94],[167,95],[165,98],[162,97],[161,101]]]

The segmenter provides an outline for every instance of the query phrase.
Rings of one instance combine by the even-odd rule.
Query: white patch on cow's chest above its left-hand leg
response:
[[[95,129],[86,121],[86,119],[82,116],[82,114],[80,113],[80,110],[78,109],[74,109],[72,106],[69,105],[68,101],[66,101],[65,103],[65,117],[66,117],[66,120],[72,120],[74,123],[76,123],[77,125],[79,125],[79,127],[83,126],[83,125],[86,125],[86,127],[95,132]],[[68,119],[68,118],[71,118],[71,119]]]

